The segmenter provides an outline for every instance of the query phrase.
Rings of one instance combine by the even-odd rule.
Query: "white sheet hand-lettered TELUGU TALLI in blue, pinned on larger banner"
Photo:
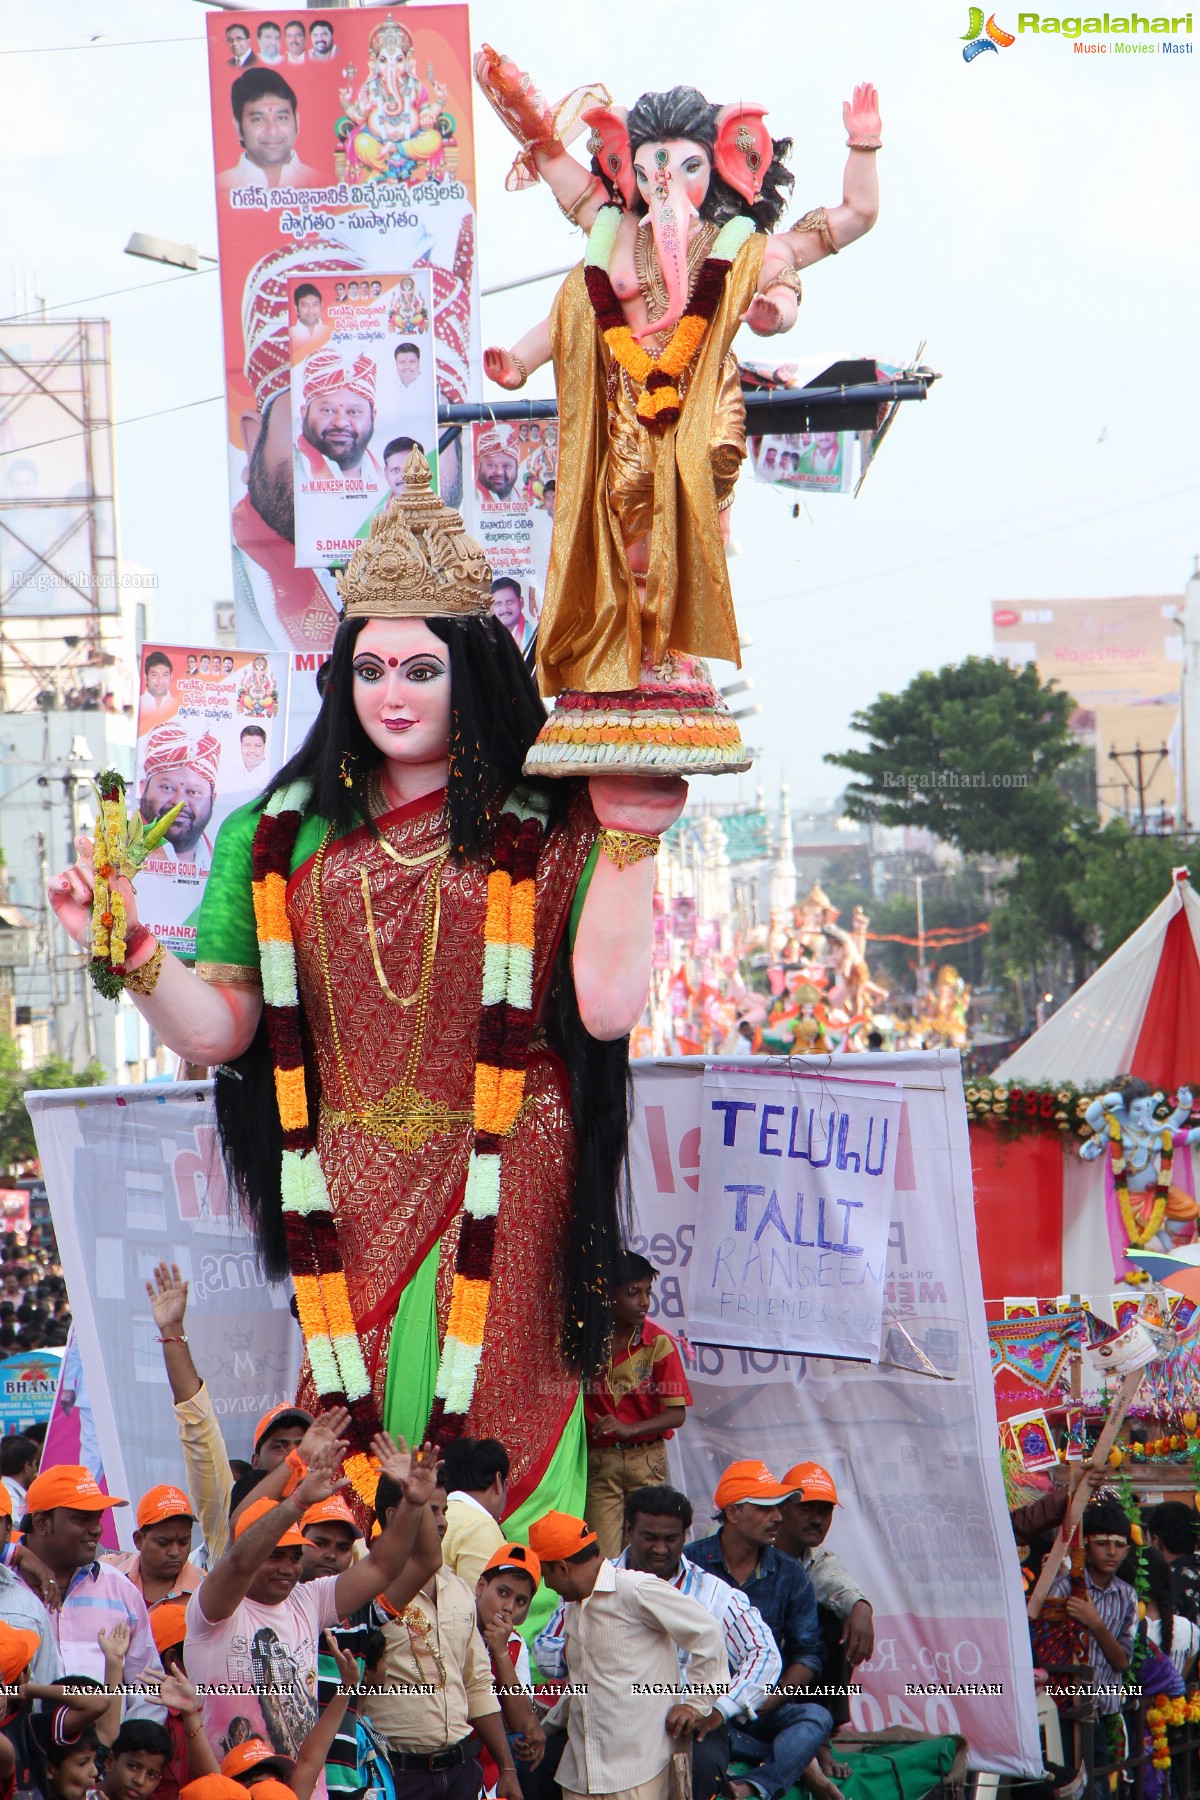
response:
[[[878,1361],[901,1100],[705,1071],[693,1321],[714,1343]]]

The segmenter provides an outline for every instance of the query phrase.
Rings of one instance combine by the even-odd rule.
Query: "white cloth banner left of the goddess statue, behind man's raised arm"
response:
[[[230,1456],[295,1395],[300,1330],[230,1211],[212,1085],[182,1082],[29,1094],[54,1233],[110,1494],[184,1487],[184,1454],[146,1283],[158,1262],[191,1282],[187,1339]],[[133,1507],[115,1514],[133,1548]]]

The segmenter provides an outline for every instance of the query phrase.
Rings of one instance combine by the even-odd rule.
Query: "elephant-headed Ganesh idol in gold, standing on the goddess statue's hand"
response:
[[[491,50],[475,77],[522,144],[509,189],[545,180],[587,234],[549,319],[484,371],[524,387],[554,364],[558,499],[538,682],[558,697],[525,763],[538,774],[721,774],[745,745],[702,657],[739,664],[725,545],[747,454],[732,342],[790,331],[801,270],[862,238],[878,214],[873,86],[842,106],[842,202],[779,229],[790,140],[765,108],[696,88],[626,112],[599,86],[558,106]],[[567,146],[590,130],[590,173]]]

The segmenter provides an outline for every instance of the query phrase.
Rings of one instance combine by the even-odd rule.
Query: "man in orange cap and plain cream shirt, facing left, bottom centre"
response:
[[[547,1512],[529,1526],[542,1579],[567,1602],[563,1658],[570,1687],[547,1715],[567,1730],[558,1764],[565,1796],[667,1800],[671,1755],[711,1728],[729,1692],[721,1627],[696,1600],[601,1557],[585,1519]],[[689,1656],[687,1683],[680,1651]],[[664,1696],[678,1694],[666,1706]]]

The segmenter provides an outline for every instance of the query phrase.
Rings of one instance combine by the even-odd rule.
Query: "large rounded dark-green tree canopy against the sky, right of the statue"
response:
[[[826,761],[862,778],[846,790],[851,819],[923,826],[964,853],[1022,855],[1070,823],[1056,778],[1079,758],[1074,709],[1031,662],[968,657],[855,713],[867,749]]]

